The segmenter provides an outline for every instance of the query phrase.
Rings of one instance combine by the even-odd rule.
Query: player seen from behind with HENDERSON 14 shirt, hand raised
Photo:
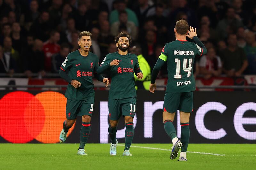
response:
[[[173,143],[170,159],[175,159],[181,148],[179,160],[187,161],[186,152],[190,135],[189,116],[193,110],[193,91],[196,90],[193,63],[196,55],[201,56],[207,53],[207,50],[196,35],[196,28],[194,30],[193,27],[190,27],[190,31],[188,30],[187,21],[177,21],[174,32],[176,41],[164,46],[152,70],[149,91],[154,93],[156,90],[157,74],[167,62],[168,82],[164,96],[163,122],[164,129]],[[186,41],[186,36],[193,39],[196,44]],[[180,110],[181,141],[177,138],[172,124],[177,110]]]

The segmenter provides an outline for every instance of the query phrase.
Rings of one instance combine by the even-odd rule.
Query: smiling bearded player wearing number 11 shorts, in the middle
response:
[[[130,146],[134,135],[133,118],[136,108],[136,90],[134,72],[138,79],[143,78],[142,71],[135,54],[128,53],[132,39],[127,33],[119,33],[115,37],[118,51],[108,54],[100,64],[99,74],[110,71],[112,78],[108,96],[109,127],[108,133],[111,139],[110,155],[116,155],[117,124],[121,116],[125,120],[125,149],[123,156],[132,156]]]

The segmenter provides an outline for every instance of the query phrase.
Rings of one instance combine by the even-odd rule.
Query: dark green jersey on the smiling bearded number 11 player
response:
[[[119,60],[119,65],[110,66],[110,62],[115,59]],[[101,74],[107,70],[110,71],[111,76],[109,99],[124,99],[137,96],[134,72],[142,71],[135,54],[120,55],[118,52],[108,54],[100,64],[97,72]]]

